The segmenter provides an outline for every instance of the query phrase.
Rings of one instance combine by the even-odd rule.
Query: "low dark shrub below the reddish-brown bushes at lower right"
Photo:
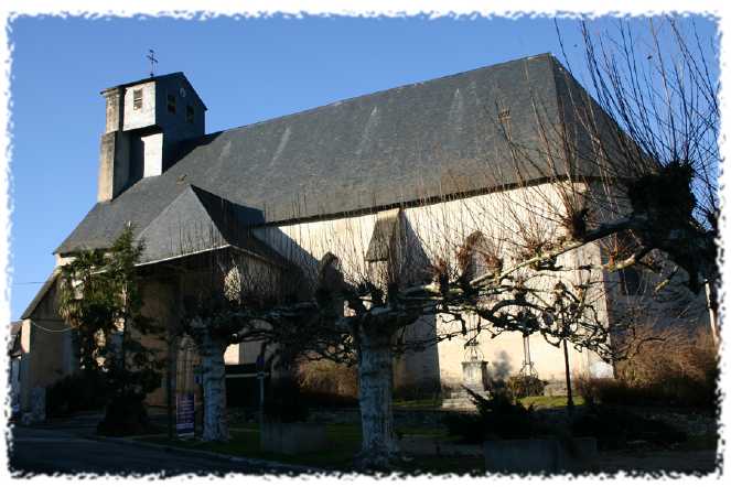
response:
[[[681,443],[687,435],[659,421],[642,418],[621,408],[594,405],[571,423],[574,436],[594,436],[602,450],[623,448],[627,442],[643,441],[658,446]]]

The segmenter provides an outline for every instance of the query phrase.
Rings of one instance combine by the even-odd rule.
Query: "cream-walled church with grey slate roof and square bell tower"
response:
[[[60,242],[56,269],[22,315],[21,402],[26,408],[32,388],[77,367],[56,312],[58,267],[77,250],[111,247],[128,225],[146,245],[144,314],[168,329],[179,326],[185,295],[215,274],[206,268],[212,255],[246,257],[251,274],[224,279],[247,285],[257,269],[286,262],[307,274],[326,253],[337,256],[346,278],[368,272],[388,259],[384,248],[395,239],[415,242],[431,264],[454,260],[469,238],[499,241],[496,235],[509,227],[498,228],[502,219],[558,232],[556,223],[539,221],[561,203],[560,187],[546,177],[557,169],[516,169],[519,154],[505,136],[538,153],[545,128],[570,123],[567,107],[583,93],[553,56],[541,54],[206,133],[208,108],[183,73],[105,89],[97,203]],[[581,139],[580,127],[573,129]],[[596,170],[582,161],[560,171],[591,185]],[[490,228],[496,234],[487,235]],[[601,264],[608,256],[591,244],[561,259]],[[636,293],[604,291],[596,310],[606,320]],[[440,326],[439,316],[424,316],[411,333]],[[178,357],[173,377],[149,398],[163,405],[169,388],[195,387],[195,358],[185,339],[157,345]],[[257,354],[255,344],[229,347],[232,380],[255,370]],[[456,389],[471,360],[493,378],[535,374],[556,387],[565,380],[561,348],[541,336],[504,333],[408,353],[395,365],[395,387]],[[574,375],[613,374],[588,350],[570,349],[569,361]]]

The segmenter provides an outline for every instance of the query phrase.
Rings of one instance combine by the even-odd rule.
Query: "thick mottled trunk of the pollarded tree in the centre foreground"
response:
[[[356,463],[363,468],[383,468],[398,455],[391,411],[391,336],[380,329],[362,329],[359,338],[358,378],[363,445]]]

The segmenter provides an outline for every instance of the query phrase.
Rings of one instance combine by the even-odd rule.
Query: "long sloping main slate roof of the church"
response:
[[[259,219],[248,223],[262,225],[515,183],[497,113],[509,109],[513,138],[538,148],[535,110],[558,120],[561,69],[541,54],[187,141],[162,175],[97,203],[56,252],[109,247],[128,221],[162,239],[151,250],[172,251],[163,215],[203,216],[209,197],[249,216],[256,208]]]

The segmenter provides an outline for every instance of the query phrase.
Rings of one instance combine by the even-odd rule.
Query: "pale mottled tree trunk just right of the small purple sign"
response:
[[[228,441],[226,422],[226,366],[224,351],[227,343],[203,333],[201,360],[203,365],[203,441]]]

